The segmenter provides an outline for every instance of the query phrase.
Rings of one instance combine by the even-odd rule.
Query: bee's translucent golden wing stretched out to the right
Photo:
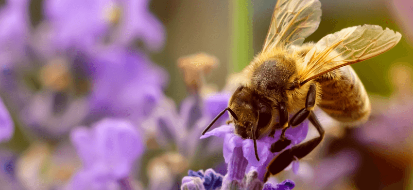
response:
[[[323,37],[299,64],[299,81],[304,84],[345,65],[373,58],[394,47],[401,34],[376,25],[355,26]]]

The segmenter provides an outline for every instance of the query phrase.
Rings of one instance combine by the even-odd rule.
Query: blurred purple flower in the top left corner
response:
[[[6,0],[0,7],[0,70],[25,57],[29,38],[29,0]]]

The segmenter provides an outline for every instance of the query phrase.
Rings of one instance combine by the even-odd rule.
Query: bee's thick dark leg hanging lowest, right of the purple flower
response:
[[[309,111],[309,120],[317,129],[320,134],[319,137],[311,139],[301,145],[294,146],[291,149],[284,150],[281,154],[276,156],[270,164],[268,164],[267,172],[264,176],[264,181],[267,181],[270,175],[275,175],[284,170],[295,158],[301,159],[307,156],[324,138],[324,129],[321,127],[320,122],[317,117],[314,115],[314,112]],[[295,157],[295,158],[294,158]]]

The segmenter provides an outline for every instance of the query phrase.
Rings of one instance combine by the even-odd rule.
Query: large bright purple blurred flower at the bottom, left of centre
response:
[[[103,119],[92,129],[79,127],[70,139],[83,162],[68,189],[106,190],[120,186],[144,150],[136,128],[125,120]]]

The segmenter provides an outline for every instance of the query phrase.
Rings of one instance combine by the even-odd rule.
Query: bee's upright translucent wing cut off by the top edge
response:
[[[320,24],[320,7],[318,0],[278,0],[262,51],[303,44]]]

